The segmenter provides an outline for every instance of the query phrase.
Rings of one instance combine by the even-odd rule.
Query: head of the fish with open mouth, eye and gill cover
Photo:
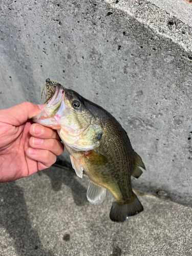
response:
[[[99,146],[102,123],[87,107],[86,99],[59,83],[49,86],[48,104],[33,121],[56,129],[63,143],[73,150],[87,152]]]

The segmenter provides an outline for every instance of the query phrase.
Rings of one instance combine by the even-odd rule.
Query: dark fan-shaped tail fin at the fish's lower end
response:
[[[143,211],[143,206],[134,194],[133,200],[129,203],[123,204],[113,201],[110,211],[110,219],[114,222],[124,222],[128,219],[128,216],[134,216],[140,211]]]

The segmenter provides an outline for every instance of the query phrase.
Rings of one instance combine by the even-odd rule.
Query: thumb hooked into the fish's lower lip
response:
[[[45,105],[35,105],[31,102],[23,102],[18,105],[12,106],[9,109],[2,110],[4,115],[4,122],[10,123],[14,126],[25,123],[28,119],[33,116],[40,114]],[[1,117],[1,111],[0,111]]]

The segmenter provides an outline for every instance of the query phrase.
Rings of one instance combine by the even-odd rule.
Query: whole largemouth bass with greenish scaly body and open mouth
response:
[[[145,165],[133,150],[121,124],[101,106],[46,79],[42,93],[46,106],[33,121],[52,127],[69,152],[76,175],[86,174],[90,181],[88,201],[100,204],[106,189],[114,196],[110,219],[124,222],[143,211],[132,189],[131,176],[139,178]]]

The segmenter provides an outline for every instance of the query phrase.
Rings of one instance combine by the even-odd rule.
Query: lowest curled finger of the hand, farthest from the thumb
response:
[[[41,167],[44,166],[44,168],[41,169],[45,169],[50,167],[52,164],[54,164],[56,162],[56,156],[50,152],[49,150],[37,150],[36,148],[32,148],[29,147],[26,151],[26,155],[41,163]],[[38,169],[40,170],[40,169]]]

